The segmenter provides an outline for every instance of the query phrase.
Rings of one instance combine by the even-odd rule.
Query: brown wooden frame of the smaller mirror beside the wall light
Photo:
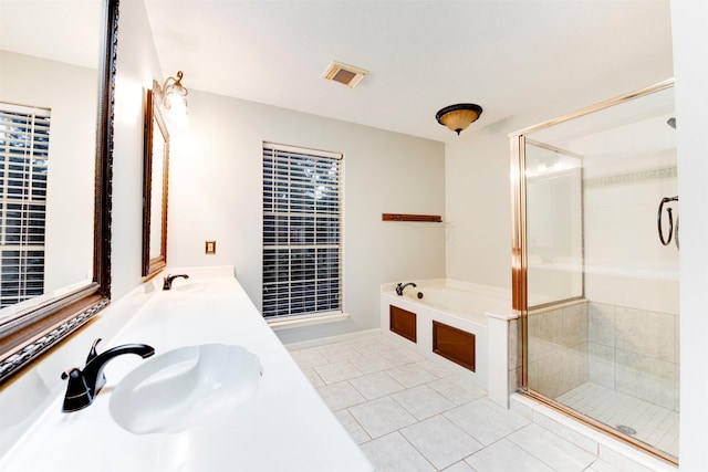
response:
[[[157,125],[157,129],[156,126]],[[163,139],[163,192],[160,196],[153,195],[153,156],[155,139]],[[143,281],[148,281],[167,266],[167,191],[169,185],[169,133],[165,124],[165,118],[160,111],[155,91],[147,90],[145,95],[145,134],[144,134],[144,164],[143,164]],[[159,254],[150,258],[150,229],[154,221],[152,214],[153,198],[159,197],[160,202],[160,243]]]

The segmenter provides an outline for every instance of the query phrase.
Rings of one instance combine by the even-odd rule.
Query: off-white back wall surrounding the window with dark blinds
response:
[[[169,266],[233,264],[260,307],[264,140],[344,154],[351,318],[281,331],[281,339],[378,328],[381,283],[445,276],[445,224],[381,221],[383,212],[444,214],[441,143],[198,91],[188,125],[170,127]],[[215,255],[205,255],[206,240],[217,241]]]

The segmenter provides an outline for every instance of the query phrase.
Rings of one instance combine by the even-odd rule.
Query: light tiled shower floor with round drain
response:
[[[678,457],[678,412],[641,400],[621,391],[586,382],[555,399],[572,409],[617,428],[674,457]]]

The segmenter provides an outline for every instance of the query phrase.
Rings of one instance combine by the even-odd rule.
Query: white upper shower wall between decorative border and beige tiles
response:
[[[650,156],[647,156],[649,159]],[[645,169],[650,167],[649,164]],[[642,170],[636,172],[641,174]],[[624,175],[632,176],[634,172]],[[678,315],[679,251],[674,244],[675,238],[668,247],[662,245],[656,228],[662,198],[676,195],[676,178],[585,189],[587,300]],[[676,224],[677,204],[669,207],[674,209]],[[664,234],[668,238],[667,206],[664,208]],[[681,218],[681,235],[683,232]]]

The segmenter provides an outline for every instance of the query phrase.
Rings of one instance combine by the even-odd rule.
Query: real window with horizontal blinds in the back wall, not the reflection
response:
[[[263,144],[263,316],[342,313],[341,154]]]

